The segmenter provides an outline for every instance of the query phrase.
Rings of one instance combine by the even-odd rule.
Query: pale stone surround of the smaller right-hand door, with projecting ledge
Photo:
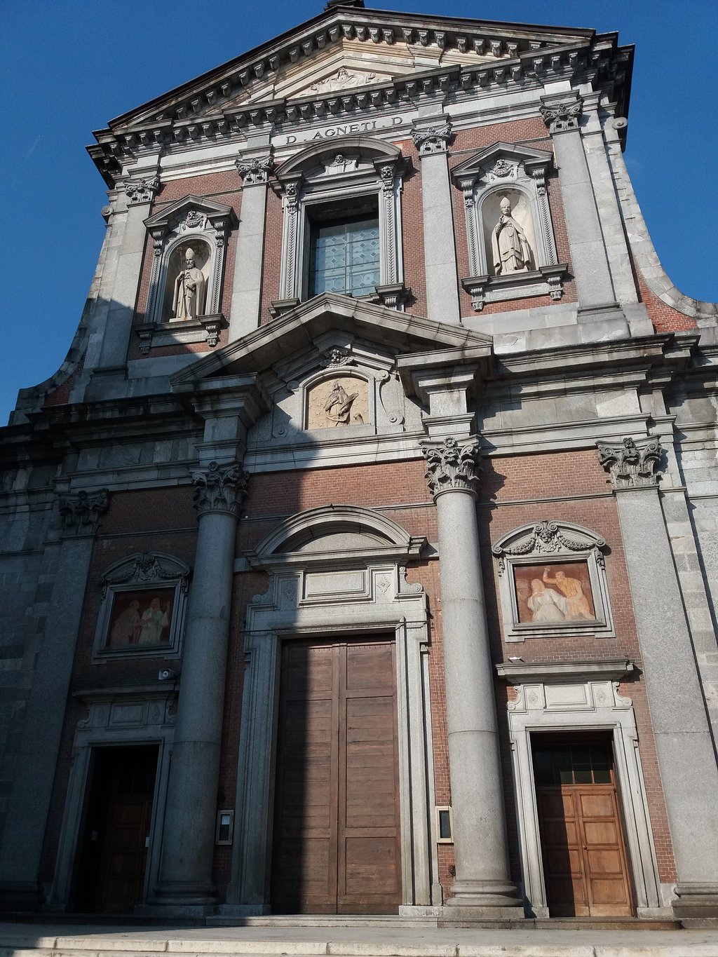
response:
[[[639,918],[671,918],[672,885],[661,885],[639,755],[633,702],[618,681],[634,671],[625,658],[571,663],[499,664],[517,697],[507,704],[524,894],[537,918],[549,917],[533,779],[531,734],[609,731],[629,873]]]

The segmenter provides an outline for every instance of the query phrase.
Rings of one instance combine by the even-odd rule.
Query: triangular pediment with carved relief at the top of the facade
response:
[[[607,34],[615,42],[615,34]],[[588,47],[593,30],[335,7],[110,122],[118,134],[452,66]],[[345,85],[347,84],[347,85]]]

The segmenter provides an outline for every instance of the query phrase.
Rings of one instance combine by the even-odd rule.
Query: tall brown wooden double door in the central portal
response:
[[[286,642],[280,688],[273,909],[395,912],[393,642]]]

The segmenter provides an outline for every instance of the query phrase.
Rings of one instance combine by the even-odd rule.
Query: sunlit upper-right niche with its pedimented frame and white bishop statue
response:
[[[566,263],[553,239],[546,173],[551,154],[497,143],[452,169],[463,192],[471,276],[461,285],[474,309],[486,302],[561,299]]]

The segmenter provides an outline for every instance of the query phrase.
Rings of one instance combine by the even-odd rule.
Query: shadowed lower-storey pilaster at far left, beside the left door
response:
[[[33,909],[37,902],[37,877],[87,574],[107,500],[103,489],[66,494],[59,500],[62,538],[55,546],[50,612],[44,634],[34,639],[35,664],[22,734],[14,749],[9,746],[4,762],[5,773],[13,781],[0,841],[0,896],[16,909]],[[48,551],[52,555],[52,547]]]

